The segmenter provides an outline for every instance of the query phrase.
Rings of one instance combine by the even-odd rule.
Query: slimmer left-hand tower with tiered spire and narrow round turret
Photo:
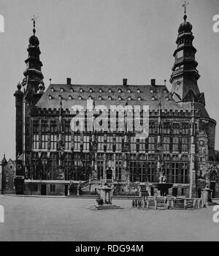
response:
[[[35,20],[33,21],[33,35],[29,38],[28,59],[25,78],[18,84],[15,91],[16,106],[16,178],[15,187],[17,194],[23,194],[24,170],[30,166],[31,160],[31,110],[42,97],[45,90],[42,75],[42,62],[39,59],[39,39],[35,36]]]

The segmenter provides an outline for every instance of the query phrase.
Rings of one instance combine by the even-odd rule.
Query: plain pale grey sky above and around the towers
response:
[[[31,17],[42,52],[42,72],[52,83],[158,84],[172,73],[177,29],[183,22],[182,0],[0,0],[0,159],[15,159],[15,97],[23,79]],[[191,0],[197,69],[207,111],[219,123],[219,33],[212,31],[218,0]],[[219,148],[219,124],[215,148]]]

